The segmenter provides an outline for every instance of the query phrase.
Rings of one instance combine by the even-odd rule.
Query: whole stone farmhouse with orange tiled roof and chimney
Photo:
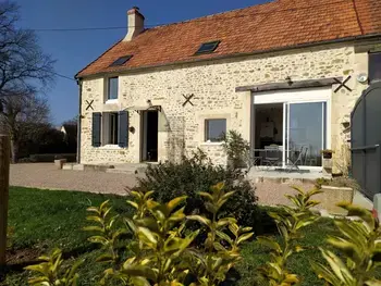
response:
[[[274,0],[126,35],[76,74],[83,164],[180,160],[197,148],[225,164],[221,135],[276,145],[283,164],[340,172],[349,114],[381,73],[381,1]],[[295,152],[296,153],[296,152]],[[260,162],[259,162],[260,163]]]

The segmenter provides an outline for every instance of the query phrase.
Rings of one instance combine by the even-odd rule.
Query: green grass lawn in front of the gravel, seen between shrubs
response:
[[[13,250],[33,249],[33,253],[44,253],[53,247],[63,249],[66,257],[85,258],[79,269],[81,285],[96,285],[102,273],[102,265],[94,263],[99,249],[90,245],[82,231],[86,224],[86,208],[98,206],[110,199],[115,211],[130,213],[125,198],[77,191],[40,190],[12,187],[10,189],[10,220],[14,227]],[[295,254],[291,270],[304,278],[302,285],[322,285],[310,271],[309,260],[321,260],[317,247],[322,245],[328,233],[334,232],[330,220],[305,231],[302,245],[309,250]],[[243,261],[237,265],[241,275],[238,285],[266,285],[256,274],[256,269],[269,258],[268,249],[256,241],[247,243],[242,250]],[[22,261],[22,258],[21,258]],[[11,265],[5,281],[0,285],[26,285],[27,273],[21,265]]]

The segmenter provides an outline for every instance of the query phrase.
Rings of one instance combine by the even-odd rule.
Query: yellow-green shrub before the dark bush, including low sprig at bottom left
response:
[[[88,208],[87,221],[93,225],[85,231],[93,235],[90,241],[100,244],[103,253],[97,262],[106,263],[101,285],[200,285],[218,286],[226,279],[228,272],[241,259],[239,246],[253,236],[251,227],[239,227],[234,217],[220,215],[220,209],[234,196],[218,184],[209,192],[200,192],[206,209],[212,219],[184,213],[186,196],[167,203],[155,201],[152,191],[132,191],[128,204],[135,208],[133,217],[112,216],[109,202]],[[207,229],[204,246],[195,244],[199,229],[186,228],[188,221],[198,221]],[[128,231],[133,239],[127,241],[123,253],[118,253],[116,245],[125,243],[121,234]],[[61,270],[61,251],[54,250],[50,257],[42,257],[40,264],[26,269],[41,275],[29,279],[33,285],[76,285],[78,275],[75,264],[66,272]],[[81,263],[81,262],[79,262]]]

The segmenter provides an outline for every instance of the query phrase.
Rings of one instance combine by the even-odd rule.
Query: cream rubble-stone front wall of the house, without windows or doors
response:
[[[135,133],[130,133],[128,148],[96,148],[91,146],[91,113],[147,105],[147,100],[150,100],[153,105],[162,108],[159,113],[159,161],[176,161],[200,148],[214,163],[224,164],[226,158],[221,145],[205,142],[205,120],[226,119],[226,129],[236,129],[249,140],[251,92],[237,92],[236,87],[283,83],[287,76],[297,82],[352,75],[347,83],[352,92],[342,88],[335,94],[333,90],[337,85],[332,86],[331,149],[339,150],[345,138],[343,123],[349,122],[357,98],[367,88],[367,85],[356,80],[359,73],[368,73],[367,45],[325,45],[119,74],[119,99],[113,103],[105,102],[106,78],[85,78],[81,163],[139,162],[140,115],[130,112],[130,126],[135,128]],[[183,107],[183,96],[189,95],[194,95],[190,100],[194,105]],[[94,110],[86,110],[86,101],[91,100]],[[340,161],[340,152],[335,153],[334,159]]]

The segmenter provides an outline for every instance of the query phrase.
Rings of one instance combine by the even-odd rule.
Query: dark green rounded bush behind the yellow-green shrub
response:
[[[159,202],[170,201],[180,196],[187,196],[186,214],[207,215],[199,191],[208,192],[210,186],[223,182],[225,188],[234,196],[221,209],[222,215],[234,216],[239,224],[253,226],[260,232],[257,197],[251,184],[238,170],[216,166],[200,150],[192,158],[183,158],[182,162],[165,162],[149,165],[146,177],[138,178],[140,190],[153,190]]]

